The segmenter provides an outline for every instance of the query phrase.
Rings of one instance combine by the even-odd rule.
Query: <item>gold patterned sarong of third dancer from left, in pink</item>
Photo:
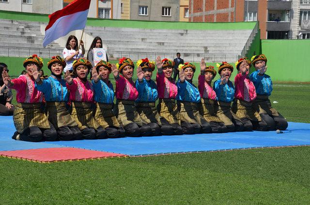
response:
[[[71,116],[78,123],[78,128],[80,130],[84,130],[88,127],[96,130],[100,126],[93,118],[91,103],[72,101]]]

